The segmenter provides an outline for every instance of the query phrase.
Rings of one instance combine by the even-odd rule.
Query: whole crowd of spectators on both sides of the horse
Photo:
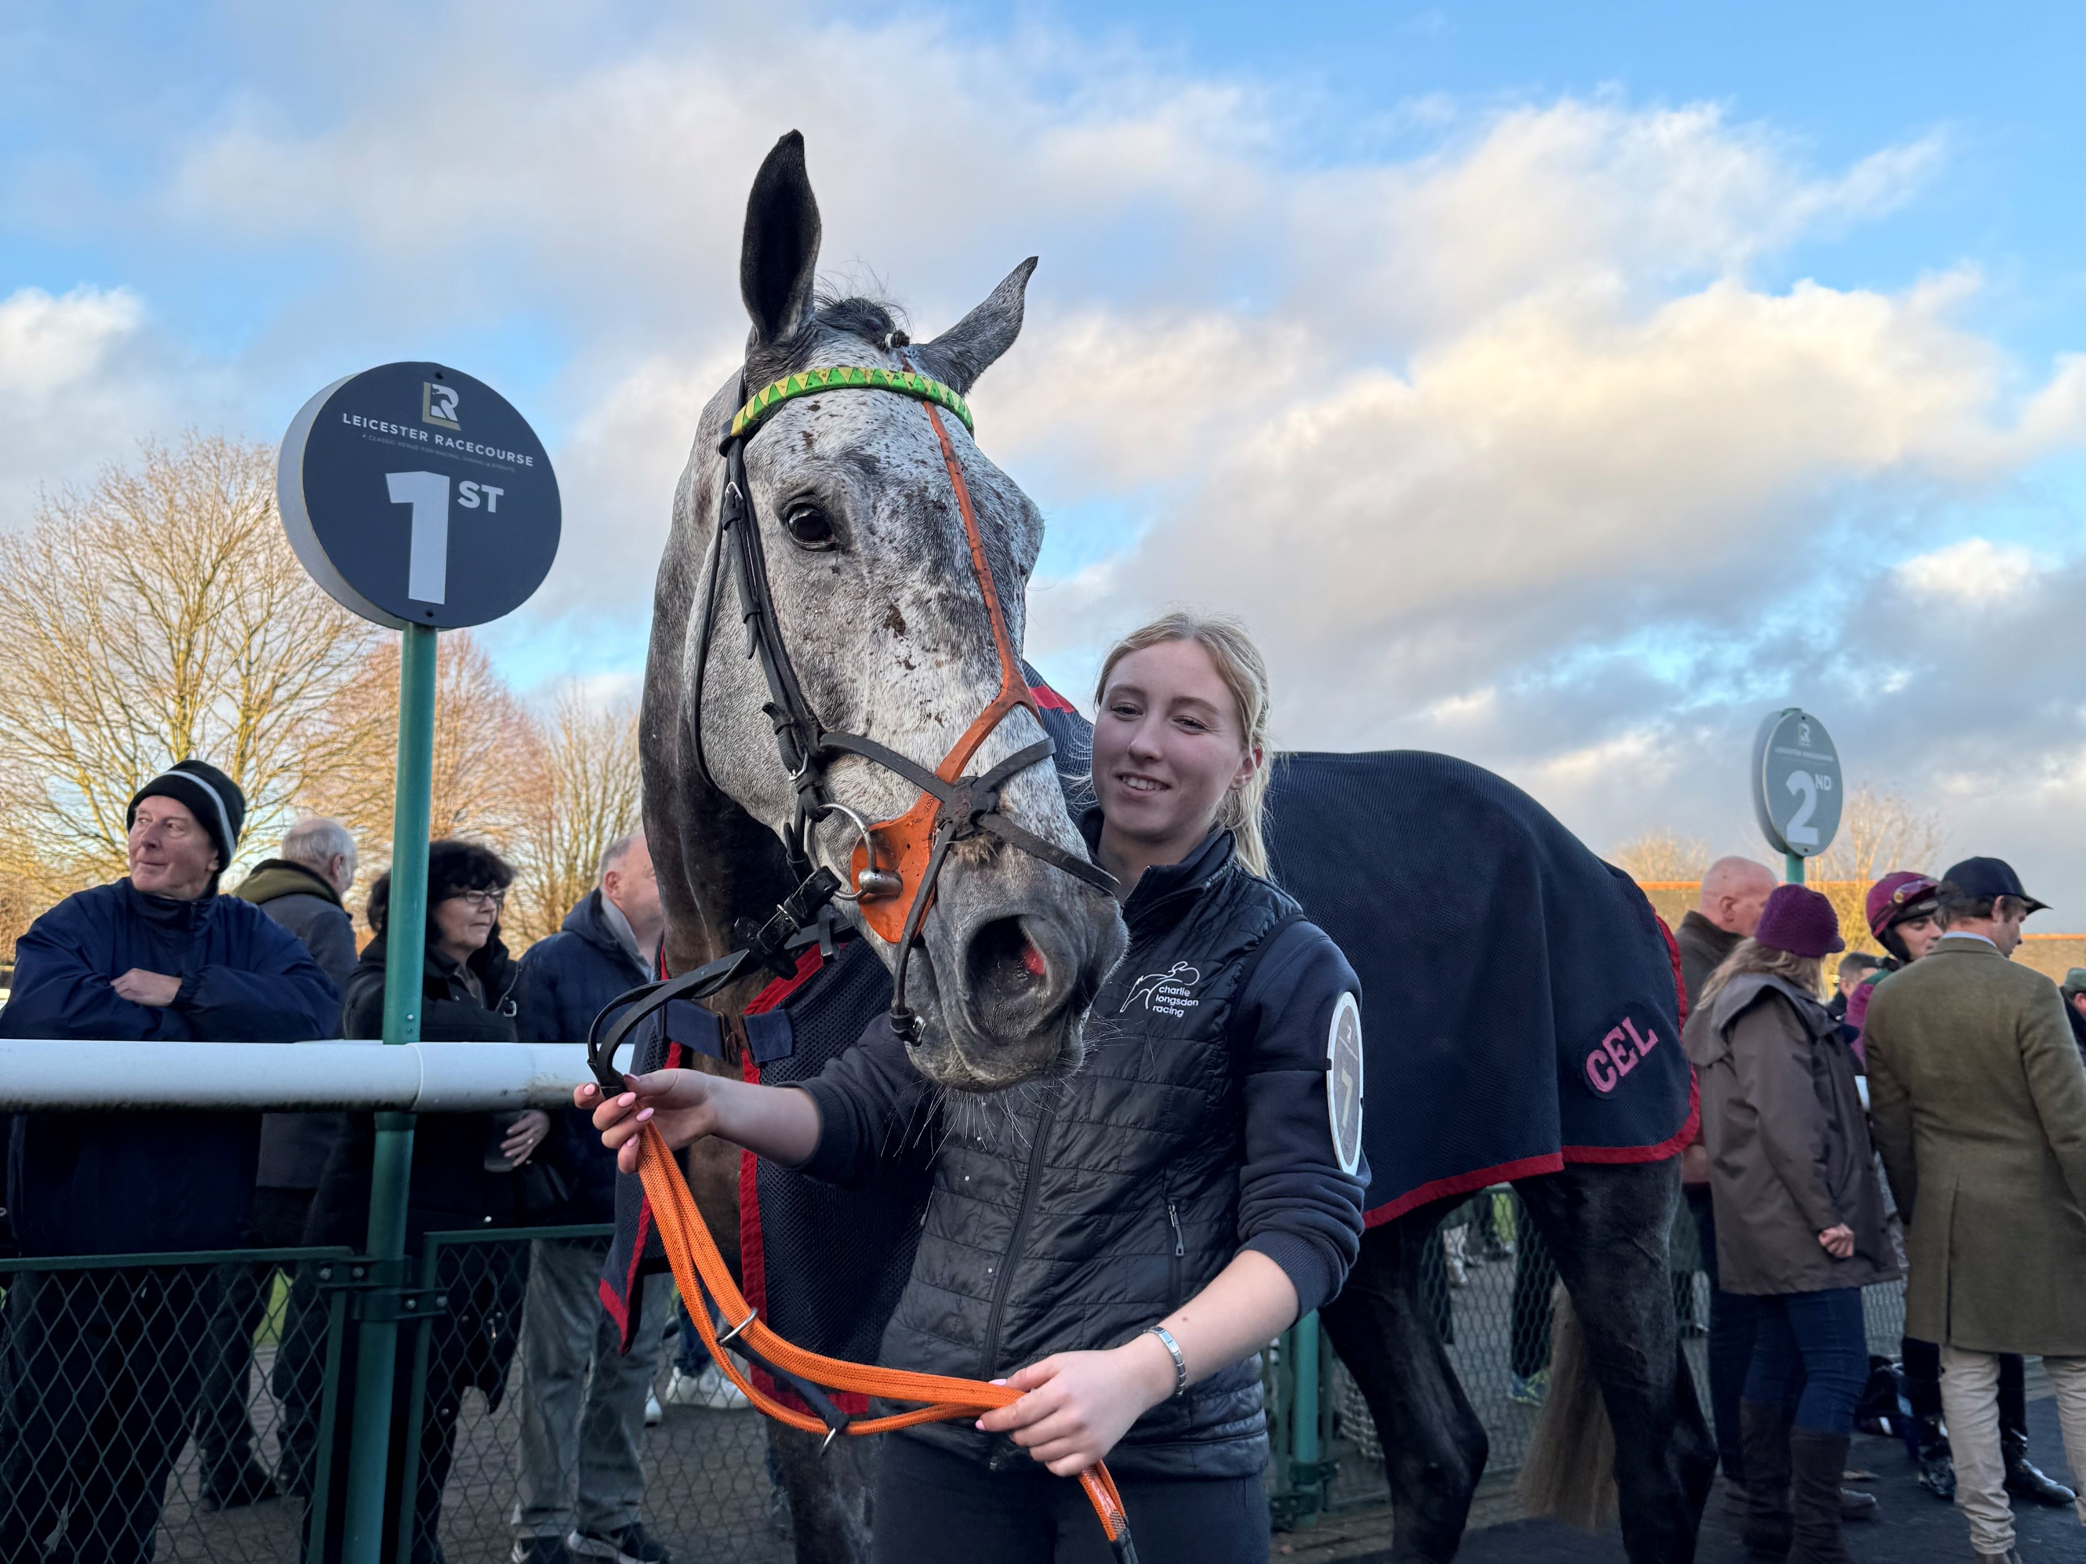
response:
[[[181,761],[140,788],[129,876],[69,897],[21,938],[0,1036],[380,1036],[390,876],[371,886],[371,938],[357,951],[344,905],[353,836],[305,820],[221,895],[242,824],[240,788],[209,763]],[[580,1041],[655,974],[665,920],[640,834],[607,849],[599,884],[522,959],[501,940],[511,882],[490,849],[432,842],[423,1038]],[[1723,859],[1675,930],[1702,1105],[1683,1193],[1711,1282],[1708,1393],[1723,1501],[1758,1554],[1838,1564],[1844,1522],[1875,1514],[1873,1497],[1844,1487],[1879,1368],[1861,1289],[1900,1274],[1905,1339],[1882,1366],[1886,1416],[1898,1414],[1921,1485],[1955,1499],[1992,1564],[2019,1558],[2009,1499],[2078,1504],[2086,1520],[2086,1504],[2034,1464],[2026,1420],[2026,1358],[2040,1358],[2071,1468],[2086,1470],[2086,970],[2051,984],[2009,959],[2038,909],[2000,859],[1898,870],[1867,893],[1886,951],[1869,957],[1844,953],[1825,897]],[[0,1564],[150,1558],[188,1441],[204,1508],[290,1495],[309,1516],[321,1472],[325,1499],[342,1501],[346,1420],[328,1433],[319,1403],[328,1372],[350,1380],[355,1335],[328,1343],[311,1268],[267,1255],[363,1247],[375,1145],[371,1114],[15,1116],[6,1203],[19,1251],[121,1260],[29,1268],[8,1287]],[[409,1253],[430,1232],[603,1224],[613,1201],[613,1155],[578,1109],[417,1120]],[[1469,1237],[1504,1257],[1491,1209],[1475,1207]],[[1523,1239],[1517,1268],[1537,1276]],[[257,1257],[211,1272],[152,1260],[225,1249]],[[1462,1249],[1458,1228],[1446,1262],[1458,1272]],[[519,1353],[513,1558],[659,1564],[668,1549],[640,1520],[659,1364],[620,1351],[597,1299],[605,1239],[542,1237],[488,1255],[444,1280],[430,1351],[398,1355],[396,1422],[421,1410],[394,1441],[394,1470],[411,1481],[390,1491],[409,1514],[388,1535],[409,1539],[413,1560],[440,1558],[463,1397],[480,1389],[496,1403]],[[645,1287],[640,1318],[665,1318],[672,1278]],[[248,1397],[254,1337],[284,1289],[271,1470]],[[1539,1399],[1548,1287],[1517,1285],[1514,1310],[1529,1326],[1517,1330],[1527,1343],[1514,1393]],[[743,1408],[686,1322],[680,1339],[663,1399]]]

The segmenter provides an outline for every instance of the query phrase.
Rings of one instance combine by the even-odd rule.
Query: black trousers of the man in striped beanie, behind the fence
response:
[[[21,1272],[6,1299],[0,1564],[152,1558],[217,1287],[179,1266]]]

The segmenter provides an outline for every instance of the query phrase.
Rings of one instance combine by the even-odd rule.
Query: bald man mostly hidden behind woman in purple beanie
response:
[[[1688,1011],[1694,1013],[1696,999],[1708,974],[1723,966],[1723,959],[1738,949],[1761,926],[1761,909],[1775,888],[1775,876],[1767,865],[1750,857],[1721,857],[1702,876],[1700,903],[1681,918],[1673,930],[1673,943],[1681,951],[1681,986],[1688,993]],[[1752,1362],[1752,1333],[1758,1305],[1742,1293],[1725,1293],[1717,1287],[1717,1218],[1708,1195],[1708,1157],[1702,1143],[1688,1147],[1681,1157],[1681,1193],[1688,1197],[1688,1214],[1694,1218],[1700,1239],[1702,1272],[1708,1276],[1708,1403],[1711,1420],[1717,1424],[1717,1462],[1729,1483],[1727,1504],[1744,1504],[1746,1460],[1738,1441],[1738,1395],[1746,1385],[1746,1366]],[[1675,1262],[1677,1264],[1677,1262]]]

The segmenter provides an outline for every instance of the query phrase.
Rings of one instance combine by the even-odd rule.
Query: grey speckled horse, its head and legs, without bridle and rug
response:
[[[1024,263],[949,332],[912,346],[874,302],[814,300],[818,240],[803,140],[791,133],[761,165],[747,204],[741,292],[753,332],[745,375],[722,386],[703,411],[655,596],[640,742],[645,824],[674,972],[741,945],[741,920],[766,922],[795,886],[780,840],[793,824],[797,788],[778,763],[770,690],[757,661],[745,655],[743,605],[728,573],[707,655],[701,644],[701,605],[711,573],[722,569],[711,551],[724,478],[720,436],[745,388],[809,367],[916,369],[968,392],[1014,342],[1033,269]],[[1018,649],[1022,592],[1043,521],[955,419],[945,425]],[[745,459],[774,621],[807,705],[830,730],[870,736],[935,765],[991,705],[1001,669],[955,492],[924,409],[889,392],[797,396],[768,417]],[[1035,715],[1014,711],[974,765],[989,767],[1039,738]],[[1285,765],[1295,772],[1308,759],[1291,757]],[[1375,765],[1385,757],[1333,759]],[[870,822],[901,815],[916,797],[912,784],[866,761],[841,761],[828,782],[841,803]],[[1464,795],[1475,790],[1462,788],[1458,797]],[[1001,797],[1020,828],[1078,849],[1049,765],[1022,772]],[[811,855],[845,880],[853,840],[843,817],[828,817],[814,832]],[[1396,832],[1331,847],[1343,855],[1339,867],[1348,878],[1354,853],[1375,853],[1375,870],[1410,857],[1410,840]],[[1306,878],[1287,882],[1306,911],[1345,945],[1354,934],[1341,932],[1329,903],[1306,895],[1300,884]],[[1373,882],[1385,878],[1377,874]],[[1373,911],[1360,915],[1366,922]],[[1644,918],[1650,926],[1648,909]],[[872,940],[889,961],[891,947]],[[957,845],[943,872],[922,940],[926,959],[914,957],[907,991],[924,1022],[914,1057],[941,1086],[993,1093],[1078,1066],[1087,1005],[1120,957],[1124,930],[1110,897],[1037,857],[974,838]],[[1398,959],[1381,949],[1375,963],[1350,953],[1371,993],[1381,999],[1396,991]],[[749,982],[713,1007],[732,1013],[751,993]],[[1398,1074],[1400,1057],[1381,1053],[1398,1047],[1396,1028],[1371,1034],[1371,1080]],[[1523,1074],[1548,1080],[1554,1070],[1544,1061],[1542,1074]],[[1427,1101],[1454,1097],[1437,1093]],[[1446,1116],[1469,1111],[1464,1103]],[[738,1153],[715,1141],[693,1147],[690,1187],[720,1247],[736,1262]],[[1631,1560],[1685,1564],[1694,1556],[1711,1458],[1667,1293],[1675,1166],[1646,1159],[1562,1168],[1525,1178],[1521,1189],[1579,1301],[1600,1391],[1581,1395],[1571,1418],[1546,1418],[1546,1441],[1594,1449],[1585,1424],[1604,1399],[1615,1414],[1612,1464],[1571,1474],[1571,1487],[1592,1491],[1612,1470]],[[1421,1245],[1444,1209],[1448,1203],[1435,1203],[1371,1228],[1345,1295],[1325,1316],[1385,1435],[1400,1560],[1454,1556],[1485,1464],[1483,1428],[1418,1301]],[[841,1439],[820,1456],[818,1439],[780,1424],[770,1424],[770,1441],[791,1495],[801,1564],[868,1560],[876,1441]]]

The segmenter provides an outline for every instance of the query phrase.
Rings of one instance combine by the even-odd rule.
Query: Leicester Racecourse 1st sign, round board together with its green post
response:
[[[557,557],[557,478],[534,430],[490,386],[446,365],[394,363],[336,380],[305,402],[282,442],[275,498],[290,546],[313,580],[344,607],[403,634],[384,1043],[419,1043],[436,636],[511,613],[542,584]],[[453,553],[471,561],[467,576],[451,578]],[[357,1297],[340,1554],[346,1564],[378,1564],[384,1551],[398,1322],[438,1308],[409,1287],[411,1182],[413,1116],[378,1114],[371,1264]],[[409,1451],[419,1445],[413,1431],[396,1437]],[[405,1470],[411,1489],[415,1462]],[[398,1508],[401,1537],[409,1539],[411,1491]],[[323,1539],[315,1545],[323,1549]]]

